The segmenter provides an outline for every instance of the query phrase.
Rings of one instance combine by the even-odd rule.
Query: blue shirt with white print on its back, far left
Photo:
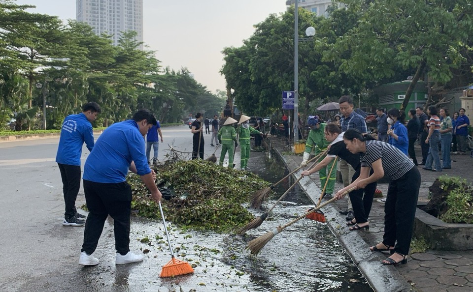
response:
[[[69,115],[64,119],[61,129],[56,162],[80,166],[80,155],[84,142],[89,151],[92,151],[94,148],[92,124],[83,113]]]

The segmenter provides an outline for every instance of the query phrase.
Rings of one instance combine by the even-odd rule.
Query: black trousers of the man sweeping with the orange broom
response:
[[[102,234],[107,216],[113,218],[115,249],[121,255],[130,251],[130,212],[132,189],[124,181],[120,183],[100,183],[84,179],[84,192],[89,216],[85,223],[82,250],[94,253]]]

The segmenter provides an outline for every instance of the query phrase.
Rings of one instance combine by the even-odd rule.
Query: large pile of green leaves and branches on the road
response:
[[[255,174],[204,160],[166,162],[154,170],[157,185],[172,187],[177,195],[162,200],[166,219],[197,230],[229,232],[244,226],[253,215],[242,204],[270,184]],[[132,210],[139,216],[160,220],[159,207],[139,176],[130,175],[128,182],[133,189]]]

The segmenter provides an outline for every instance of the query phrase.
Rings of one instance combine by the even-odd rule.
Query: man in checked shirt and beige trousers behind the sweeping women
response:
[[[362,134],[368,133],[365,119],[353,111],[353,99],[351,99],[351,97],[348,95],[343,95],[338,99],[338,105],[340,106],[340,113],[342,115],[340,119],[342,132],[345,132],[351,128],[355,128],[358,129]],[[340,163],[338,165],[340,167],[343,185],[347,186],[350,184],[350,179],[355,173],[355,170],[343,159],[340,159]],[[340,211],[340,213],[346,215],[346,220],[353,220],[353,207],[351,206],[350,198],[348,198],[348,208],[346,211]]]

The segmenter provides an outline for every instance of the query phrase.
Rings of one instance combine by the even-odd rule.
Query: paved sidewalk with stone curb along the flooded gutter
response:
[[[271,145],[276,149],[286,165],[290,169],[295,169],[302,161],[301,156],[285,155],[288,149],[279,140],[273,139]],[[416,156],[422,157],[420,148],[416,148]],[[419,172],[422,175],[422,183],[419,193],[419,201],[428,202],[429,187],[440,175],[457,175],[465,178],[467,181],[473,181],[473,158],[470,155],[452,155],[452,169],[443,172],[431,172],[422,169],[419,166]],[[419,161],[422,160],[418,159]],[[298,173],[299,174],[299,173]],[[310,182],[301,180],[304,189],[314,188],[314,184],[319,187],[320,182],[316,174],[312,175]],[[305,187],[304,187],[305,186]],[[342,183],[337,182],[335,189],[343,187]],[[378,189],[383,194],[387,192],[388,183],[378,183]],[[316,195],[309,197],[318,197],[320,189]],[[376,199],[375,199],[376,200]],[[342,210],[347,206],[346,199],[340,200],[332,206],[334,209]],[[372,253],[365,249],[382,241],[384,229],[384,204],[373,202],[370,214],[370,231],[349,232],[346,226],[344,215],[337,211],[326,210],[328,224],[337,235],[340,242],[345,246],[347,252],[360,270],[365,274],[375,291],[423,291],[423,292],[471,292],[473,291],[473,251],[426,251],[425,253],[411,254],[408,257],[407,264],[398,264],[396,266],[383,266],[379,261],[389,256],[389,254]],[[330,218],[333,217],[333,218]],[[360,242],[362,241],[362,244]],[[373,260],[374,258],[374,260]],[[387,269],[386,269],[387,268]],[[386,275],[388,273],[388,275]],[[398,277],[397,275],[401,275]],[[389,276],[392,276],[390,278]],[[404,279],[403,279],[404,278]],[[390,281],[405,282],[396,283],[389,286]],[[383,288],[383,283],[387,286]],[[409,288],[410,286],[410,288]]]

